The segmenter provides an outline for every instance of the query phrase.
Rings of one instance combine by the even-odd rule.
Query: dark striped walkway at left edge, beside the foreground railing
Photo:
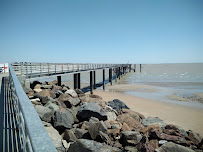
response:
[[[0,75],[0,151],[21,151],[21,140],[14,112],[14,103],[9,89],[8,74]]]

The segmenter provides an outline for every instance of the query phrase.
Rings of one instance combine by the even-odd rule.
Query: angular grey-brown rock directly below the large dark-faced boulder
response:
[[[103,121],[93,123],[89,128],[88,132],[93,140],[96,140],[98,136],[100,135],[100,131],[103,133],[107,133],[108,129],[106,128],[106,125]]]

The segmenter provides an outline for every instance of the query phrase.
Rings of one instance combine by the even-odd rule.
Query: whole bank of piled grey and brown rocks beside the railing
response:
[[[145,118],[118,99],[105,102],[57,81],[34,81],[24,90],[59,152],[203,151],[199,134]]]

